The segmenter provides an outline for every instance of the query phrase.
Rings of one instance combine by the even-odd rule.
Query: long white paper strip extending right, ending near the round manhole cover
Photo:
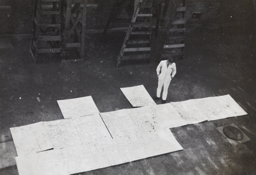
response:
[[[247,114],[230,95],[171,103],[187,124]]]

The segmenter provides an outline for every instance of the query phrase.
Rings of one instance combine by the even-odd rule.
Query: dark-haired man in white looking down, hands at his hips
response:
[[[159,65],[157,66],[157,77],[158,77],[157,96],[153,98],[154,100],[160,98],[161,91],[163,88],[162,104],[166,102],[168,88],[175,74],[176,74],[176,64],[173,62],[172,58],[163,60],[159,63]]]

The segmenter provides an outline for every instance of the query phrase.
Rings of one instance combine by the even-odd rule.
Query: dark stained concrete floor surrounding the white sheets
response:
[[[188,28],[185,56],[175,60],[177,74],[167,97],[167,102],[177,102],[230,94],[248,115],[172,128],[184,150],[79,174],[255,175],[256,60],[250,34],[234,26]],[[108,34],[105,41],[91,36],[85,61],[66,64],[54,54],[35,64],[30,39],[12,38],[13,49],[0,50],[0,143],[12,141],[10,127],[63,119],[60,99],[92,96],[99,111],[107,112],[132,107],[119,88],[144,85],[155,96],[157,47],[151,63],[116,68],[124,36]],[[230,144],[215,129],[227,124],[236,124],[251,141]],[[0,173],[18,175],[17,166]]]

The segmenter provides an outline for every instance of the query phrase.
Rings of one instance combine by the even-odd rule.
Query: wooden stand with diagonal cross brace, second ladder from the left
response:
[[[63,8],[64,34],[61,62],[84,61],[85,27],[87,8],[95,8],[98,4],[90,0],[65,0]],[[80,57],[72,59],[72,57]]]

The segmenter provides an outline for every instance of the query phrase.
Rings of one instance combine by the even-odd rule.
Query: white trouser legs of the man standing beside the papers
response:
[[[170,82],[171,82],[171,76],[170,75],[162,75],[162,74],[160,74],[158,76],[158,87],[157,87],[157,97],[158,98],[160,98],[161,91],[162,91],[162,88],[163,88],[162,99],[166,100]]]

